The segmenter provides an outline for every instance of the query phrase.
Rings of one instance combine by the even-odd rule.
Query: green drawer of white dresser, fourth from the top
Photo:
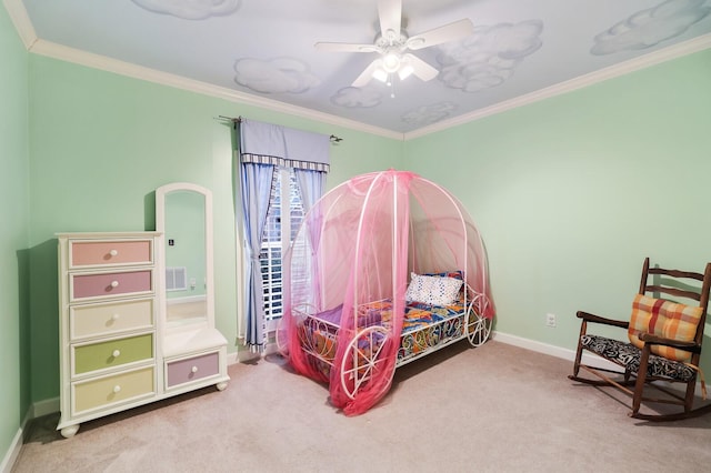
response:
[[[73,374],[121,366],[153,358],[153,334],[129,336],[106,342],[72,346]]]

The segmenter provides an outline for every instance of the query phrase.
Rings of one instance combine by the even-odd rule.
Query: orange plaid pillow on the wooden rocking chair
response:
[[[628,336],[630,342],[639,349],[644,346],[644,342],[639,338],[642,333],[651,333],[681,342],[692,342],[697,335],[697,326],[702,314],[702,308],[637,294],[632,302]],[[652,345],[652,353],[671,360],[691,361],[690,352],[671,346]]]

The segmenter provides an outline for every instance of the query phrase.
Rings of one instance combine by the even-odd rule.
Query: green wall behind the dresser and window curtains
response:
[[[328,185],[398,167],[402,142],[30,54],[32,400],[59,395],[56,232],[154,229],[154,190],[213,194],[216,320],[237,350],[230,123],[243,115],[333,133]],[[40,329],[41,328],[41,329]]]

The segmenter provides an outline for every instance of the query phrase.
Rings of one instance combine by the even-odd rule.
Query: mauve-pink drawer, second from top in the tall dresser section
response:
[[[72,301],[151,293],[153,291],[153,272],[150,269],[114,273],[70,274],[70,299]]]

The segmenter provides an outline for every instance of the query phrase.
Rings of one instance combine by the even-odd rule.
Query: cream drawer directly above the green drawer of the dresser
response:
[[[69,331],[72,341],[152,326],[152,299],[69,308]]]

